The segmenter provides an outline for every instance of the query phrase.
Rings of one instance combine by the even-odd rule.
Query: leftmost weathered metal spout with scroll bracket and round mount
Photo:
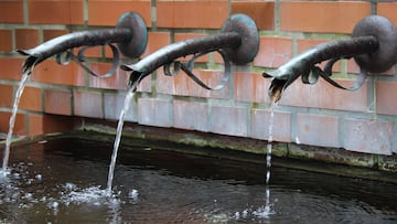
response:
[[[23,73],[31,73],[35,65],[56,55],[58,64],[66,65],[71,60],[74,60],[92,75],[110,76],[116,71],[120,57],[112,43],[117,44],[124,55],[135,58],[143,53],[147,39],[148,33],[143,19],[136,12],[126,12],[119,18],[115,29],[68,33],[42,43],[34,49],[18,50],[18,52],[28,56],[22,66]],[[96,74],[85,63],[85,51],[97,45],[108,45],[114,54],[111,68],[105,75]],[[82,47],[75,55],[73,49],[79,46]]]

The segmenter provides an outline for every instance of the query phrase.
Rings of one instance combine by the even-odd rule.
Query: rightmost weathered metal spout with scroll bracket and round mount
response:
[[[342,58],[353,57],[361,72],[351,87],[344,87],[333,81],[332,66]],[[318,64],[328,61],[322,70]],[[354,90],[360,88],[371,73],[382,73],[397,62],[397,31],[386,18],[371,15],[360,21],[353,30],[351,40],[340,40],[319,44],[297,55],[278,70],[264,73],[272,77],[269,87],[271,102],[278,102],[281,93],[301,76],[304,84],[315,84],[321,76],[331,85]]]

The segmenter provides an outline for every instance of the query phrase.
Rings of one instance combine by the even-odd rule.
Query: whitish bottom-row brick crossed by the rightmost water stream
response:
[[[269,125],[271,113],[269,109],[251,110],[251,137],[256,139],[269,139]],[[291,113],[275,111],[272,121],[272,140],[291,141]]]

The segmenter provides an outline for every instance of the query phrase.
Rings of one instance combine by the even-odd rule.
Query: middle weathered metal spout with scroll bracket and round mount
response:
[[[234,14],[225,21],[222,32],[215,35],[189,39],[164,46],[136,64],[121,65],[131,72],[129,86],[137,86],[146,76],[163,66],[165,75],[176,75],[183,71],[200,86],[206,89],[221,89],[232,73],[230,62],[246,64],[251,62],[259,49],[259,34],[255,22],[245,14]],[[219,85],[210,87],[192,73],[194,61],[207,53],[218,52],[224,61],[224,77]],[[193,55],[187,62],[176,61],[180,57]],[[171,71],[173,67],[173,71]]]

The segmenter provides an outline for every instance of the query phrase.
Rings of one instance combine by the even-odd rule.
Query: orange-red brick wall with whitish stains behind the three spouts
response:
[[[13,95],[23,57],[17,49],[33,47],[77,30],[114,26],[125,11],[139,12],[149,31],[143,56],[187,38],[218,33],[232,13],[251,17],[260,30],[260,49],[248,66],[235,67],[228,85],[218,92],[198,87],[184,74],[167,77],[162,71],[139,86],[128,121],[158,127],[268,139],[268,79],[260,73],[280,66],[315,44],[347,39],[358,20],[382,14],[397,24],[393,1],[150,1],[150,0],[6,0],[0,1],[0,132],[8,130]],[[111,56],[107,49],[87,53],[92,66],[106,70],[96,58]],[[221,57],[210,54],[195,73],[216,85]],[[219,68],[221,67],[221,68]],[[348,85],[357,66],[342,61],[335,68]],[[276,107],[273,139],[283,142],[345,148],[390,154],[397,152],[396,68],[369,77],[356,92],[324,82],[307,86],[293,83]],[[110,78],[87,75],[75,63],[61,66],[54,60],[37,65],[21,99],[18,135],[37,135],[73,128],[73,118],[116,120],[122,107],[128,74],[118,70]]]

